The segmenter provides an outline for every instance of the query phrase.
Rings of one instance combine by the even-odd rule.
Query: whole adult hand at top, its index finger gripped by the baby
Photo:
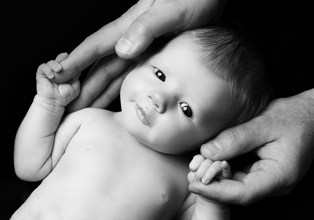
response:
[[[120,18],[105,25],[76,47],[69,57],[60,63],[62,71],[55,73],[52,81],[62,83],[72,79],[94,61],[115,50],[121,58],[134,58],[143,52],[154,38],[198,28],[209,21],[218,20],[226,3],[227,0],[140,0]],[[119,94],[119,86],[111,86],[106,92],[102,90],[128,64],[129,62],[117,58],[99,60],[97,67],[91,70],[87,81],[82,84],[81,94],[68,110],[75,111],[88,106],[100,93],[107,96],[105,100],[108,99],[108,94]],[[110,95],[109,98],[114,99],[113,96]],[[105,106],[94,104],[93,107]]]

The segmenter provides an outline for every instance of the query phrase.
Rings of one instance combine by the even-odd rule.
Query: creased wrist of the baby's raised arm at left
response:
[[[46,110],[55,113],[55,114],[63,114],[64,113],[64,106],[63,103],[58,100],[52,100],[48,98],[44,98],[40,95],[36,95],[34,97],[33,103],[37,106],[45,108]]]

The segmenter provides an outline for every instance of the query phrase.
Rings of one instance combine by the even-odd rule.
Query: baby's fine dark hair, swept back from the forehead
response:
[[[271,85],[259,49],[242,32],[236,25],[214,23],[179,36],[191,37],[200,46],[203,63],[229,88],[230,102],[225,102],[226,107],[235,111],[225,118],[231,123],[222,122],[224,126],[219,130],[253,118],[271,97]]]

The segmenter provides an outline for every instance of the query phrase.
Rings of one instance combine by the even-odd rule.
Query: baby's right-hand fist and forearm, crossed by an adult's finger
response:
[[[208,184],[211,181],[221,181],[231,178],[230,166],[226,161],[211,161],[196,155],[190,163],[191,172],[188,180],[202,181]],[[214,180],[215,178],[215,180]],[[196,202],[192,219],[226,220],[230,219],[229,205],[210,201],[200,195],[196,195]]]

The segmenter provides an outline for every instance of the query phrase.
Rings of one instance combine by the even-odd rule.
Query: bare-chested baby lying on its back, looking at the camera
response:
[[[255,48],[220,24],[183,32],[126,76],[121,112],[85,108],[62,118],[80,86],[78,77],[50,80],[67,56],[37,70],[14,166],[20,179],[42,182],[12,219],[228,218],[227,205],[188,191],[189,181],[229,178],[228,163],[199,164],[194,180],[188,152],[265,106]]]

